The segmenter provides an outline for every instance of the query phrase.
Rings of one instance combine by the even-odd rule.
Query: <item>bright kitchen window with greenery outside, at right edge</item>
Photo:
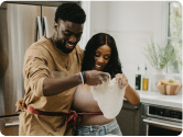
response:
[[[183,73],[183,4],[169,2],[168,44],[174,47],[176,56],[169,62],[168,73]]]

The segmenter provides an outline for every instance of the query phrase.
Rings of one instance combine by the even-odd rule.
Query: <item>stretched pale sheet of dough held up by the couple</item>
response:
[[[126,87],[119,89],[116,78],[103,81],[101,84],[90,87],[94,100],[106,118],[115,118],[121,111]]]

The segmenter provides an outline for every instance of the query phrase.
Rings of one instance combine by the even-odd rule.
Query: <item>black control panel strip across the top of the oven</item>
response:
[[[168,109],[160,109],[160,107],[155,107],[155,106],[149,107],[149,114],[163,116],[163,117],[170,117],[170,118],[183,119],[183,112],[172,111],[172,110],[168,110]]]

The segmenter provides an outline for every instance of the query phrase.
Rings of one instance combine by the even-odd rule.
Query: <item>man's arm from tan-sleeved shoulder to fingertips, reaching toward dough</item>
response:
[[[44,48],[33,47],[29,49],[23,66],[23,77],[36,96],[56,95],[82,83],[79,73],[64,78],[51,78],[46,59],[50,55],[43,50]],[[101,83],[101,77],[108,77],[108,73],[96,70],[85,71],[85,75],[86,83],[89,85]]]

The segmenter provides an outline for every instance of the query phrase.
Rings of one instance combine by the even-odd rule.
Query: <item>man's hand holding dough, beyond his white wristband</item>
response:
[[[110,77],[108,72],[101,72],[97,70],[85,71],[85,75],[86,75],[86,83],[88,85],[101,84],[103,81],[107,81],[106,78]]]

